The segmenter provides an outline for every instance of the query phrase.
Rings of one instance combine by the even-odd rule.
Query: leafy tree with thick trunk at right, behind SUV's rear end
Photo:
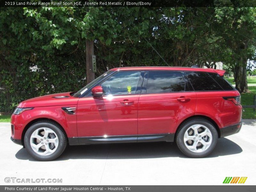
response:
[[[223,36],[231,50],[236,89],[248,91],[246,79],[247,60],[255,55],[256,45],[256,9],[255,7],[219,7],[216,8],[219,35]],[[223,24],[225,24],[223,26]],[[222,26],[222,28],[221,28]]]

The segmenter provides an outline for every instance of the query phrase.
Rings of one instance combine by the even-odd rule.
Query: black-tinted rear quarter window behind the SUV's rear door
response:
[[[214,79],[204,72],[185,72],[195,91],[223,90]]]

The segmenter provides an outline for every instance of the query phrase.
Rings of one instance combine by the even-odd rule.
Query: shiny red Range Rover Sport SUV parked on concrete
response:
[[[42,161],[69,145],[176,142],[190,157],[212,152],[239,132],[240,94],[224,70],[114,68],[78,92],[25,100],[15,109],[12,137]]]

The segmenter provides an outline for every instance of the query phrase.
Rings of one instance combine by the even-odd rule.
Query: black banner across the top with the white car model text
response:
[[[1,7],[256,7],[256,0],[2,0]]]

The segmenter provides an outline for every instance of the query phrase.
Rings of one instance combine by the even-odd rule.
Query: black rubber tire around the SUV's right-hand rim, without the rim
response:
[[[193,151],[189,150],[186,147],[185,142],[184,142],[185,132],[187,131],[187,129],[190,126],[195,125],[195,124],[202,124],[202,125],[206,126],[212,134],[212,143],[209,146],[209,148],[207,148],[203,152],[193,152]],[[210,121],[208,121],[204,118],[191,118],[191,119],[184,121],[180,125],[180,127],[178,128],[177,133],[176,133],[176,143],[177,143],[180,151],[183,154],[185,154],[186,156],[193,157],[193,158],[201,158],[201,157],[205,157],[205,156],[209,155],[215,148],[215,146],[217,144],[217,140],[218,140],[218,132],[217,132],[216,128]]]

